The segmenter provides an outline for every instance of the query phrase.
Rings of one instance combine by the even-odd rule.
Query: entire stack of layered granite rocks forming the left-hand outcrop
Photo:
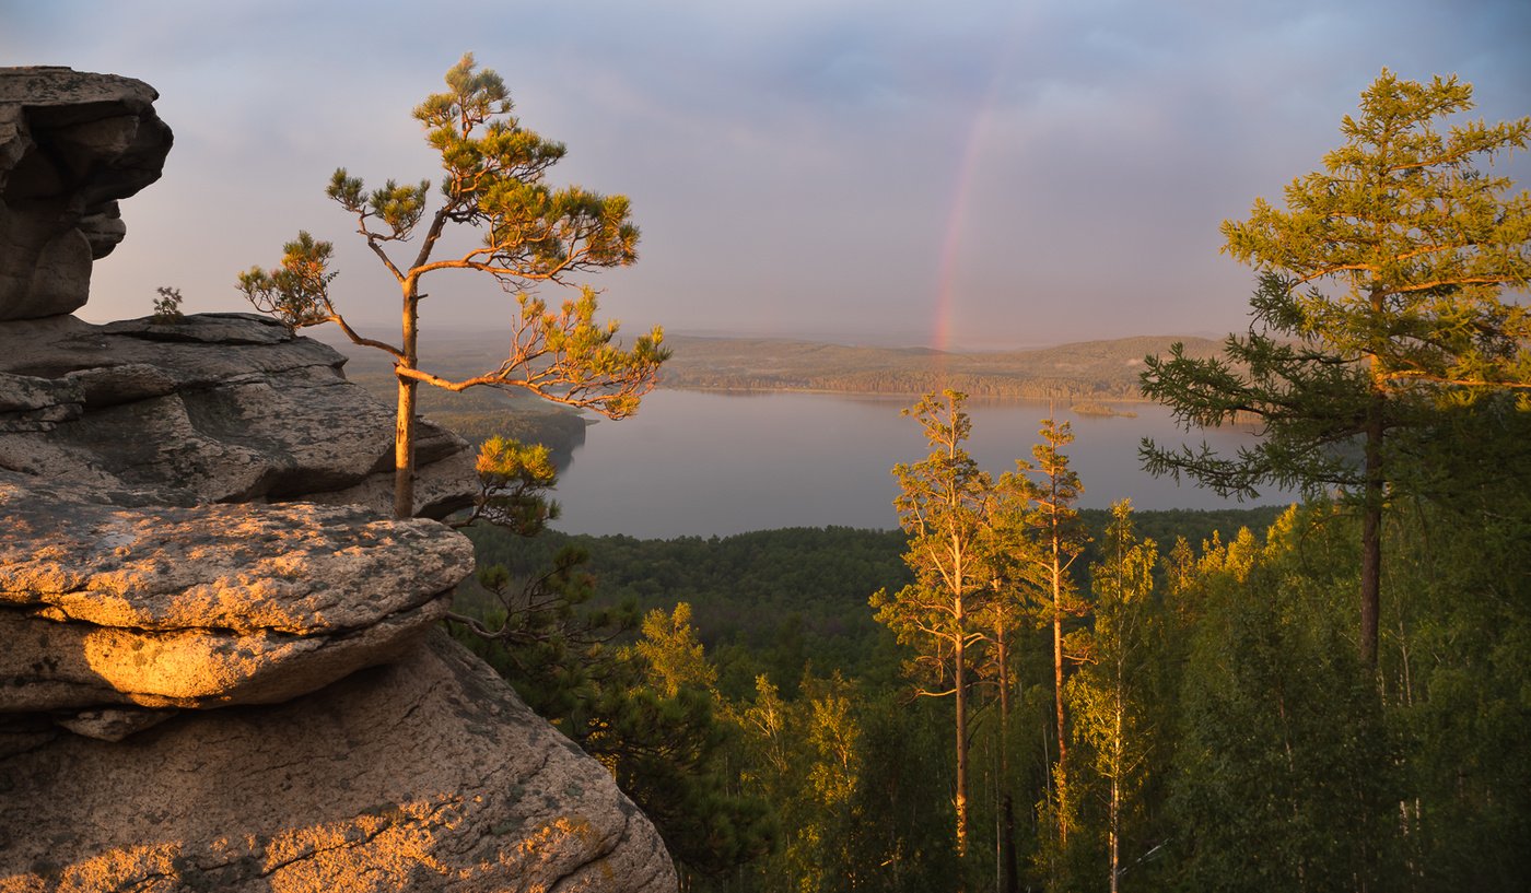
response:
[[[436,621],[475,489],[248,313],[93,326],[155,92],[0,69],[0,893],[675,890],[654,826]]]

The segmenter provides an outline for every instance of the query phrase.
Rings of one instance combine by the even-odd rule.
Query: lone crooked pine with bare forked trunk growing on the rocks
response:
[[[655,327],[631,349],[615,341],[617,324],[596,323],[592,289],[560,309],[528,294],[537,283],[571,284],[570,277],[637,260],[638,229],[628,219],[628,199],[599,196],[580,187],[554,190],[544,177],[565,148],[525,130],[511,116],[505,83],[476,69],[467,54],[447,72],[447,92],[415,109],[426,141],[441,154],[441,203],[427,216],[430,182],[387,180],[367,191],[360,177],[338,168],[326,194],[354,214],[357,232],[398,283],[403,297],[400,341],[389,344],[360,335],[331,297],[334,245],[299,232],[283,246],[280,266],[259,266],[239,275],[239,289],[256,306],[291,329],[335,323],[354,344],[393,358],[398,376],[398,417],[393,436],[393,514],[415,514],[415,387],[426,382],[461,391],[468,387],[510,387],[544,399],[620,419],[638,407],[655,382],[668,352]],[[423,235],[418,232],[424,222]],[[476,246],[449,249],[449,226],[482,235]],[[421,235],[413,258],[390,251]],[[426,275],[461,269],[488,274],[514,294],[508,349],[498,369],[465,379],[447,379],[419,367],[419,303]]]

